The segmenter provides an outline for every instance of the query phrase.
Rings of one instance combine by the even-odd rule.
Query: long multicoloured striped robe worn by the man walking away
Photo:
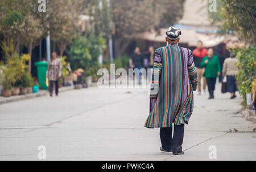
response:
[[[155,50],[147,128],[188,124],[193,112],[197,73],[192,51],[177,44]]]

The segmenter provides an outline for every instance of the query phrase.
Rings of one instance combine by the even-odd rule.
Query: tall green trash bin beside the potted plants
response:
[[[35,62],[35,66],[38,69],[38,83],[42,89],[48,89],[46,86],[46,71],[48,62]]]

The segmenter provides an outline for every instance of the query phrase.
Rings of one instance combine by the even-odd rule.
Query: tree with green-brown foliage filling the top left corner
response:
[[[14,51],[20,45],[28,48],[31,71],[32,49],[43,33],[42,16],[36,8],[38,4],[33,0],[3,0],[0,3],[0,33],[8,46],[11,46],[9,40],[13,40]]]

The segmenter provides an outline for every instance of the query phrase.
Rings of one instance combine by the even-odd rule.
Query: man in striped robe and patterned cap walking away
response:
[[[170,27],[166,35],[168,45],[155,50],[150,115],[145,127],[160,128],[160,151],[179,155],[184,154],[184,124],[188,124],[193,112],[197,73],[192,51],[177,45],[180,29]]]

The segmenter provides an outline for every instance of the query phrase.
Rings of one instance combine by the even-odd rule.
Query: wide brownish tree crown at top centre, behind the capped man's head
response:
[[[120,57],[140,33],[169,27],[183,14],[184,0],[108,0],[88,1],[96,33],[114,38],[115,56]]]

